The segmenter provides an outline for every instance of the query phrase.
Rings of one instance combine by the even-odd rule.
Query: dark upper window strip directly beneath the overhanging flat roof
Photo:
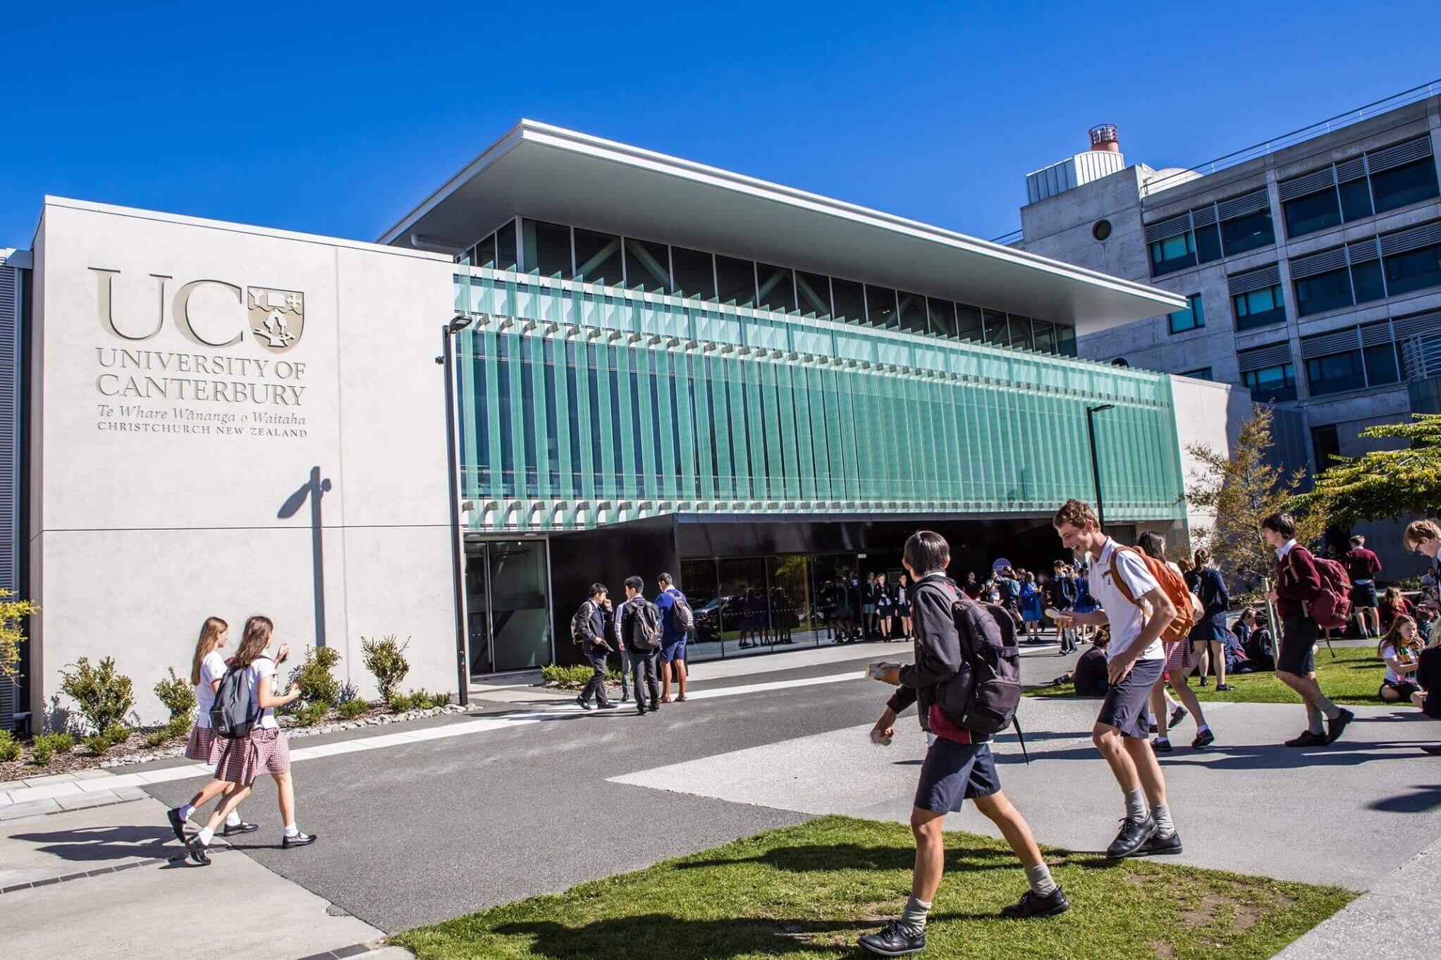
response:
[[[468,267],[519,267],[542,277],[1075,356],[1075,329],[1049,320],[987,310],[983,327],[980,307],[951,300],[527,218],[487,235],[464,259]]]

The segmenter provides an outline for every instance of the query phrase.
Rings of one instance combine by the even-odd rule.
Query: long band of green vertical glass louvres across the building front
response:
[[[458,445],[473,529],[672,512],[1179,515],[1169,379],[762,308],[463,268]],[[1000,314],[1004,320],[1004,314]]]

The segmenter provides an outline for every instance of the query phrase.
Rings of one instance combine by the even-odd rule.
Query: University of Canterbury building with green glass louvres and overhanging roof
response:
[[[362,692],[391,633],[429,689],[574,660],[630,574],[695,660],[824,643],[922,525],[961,575],[1049,569],[1069,496],[1183,536],[1185,448],[1246,409],[1075,356],[1173,293],[530,121],[378,244],[46,197],[4,304],[32,719],[79,656],[153,719],[210,614]]]

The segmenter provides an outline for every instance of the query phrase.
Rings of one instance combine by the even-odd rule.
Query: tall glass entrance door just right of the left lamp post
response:
[[[545,541],[465,545],[471,676],[552,662]]]

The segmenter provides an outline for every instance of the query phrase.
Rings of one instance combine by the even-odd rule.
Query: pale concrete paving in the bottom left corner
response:
[[[382,937],[235,850],[205,868],[171,861],[182,849],[163,823],[164,806],[147,797],[0,826],[6,956],[295,960]],[[200,904],[210,908],[197,914]]]

